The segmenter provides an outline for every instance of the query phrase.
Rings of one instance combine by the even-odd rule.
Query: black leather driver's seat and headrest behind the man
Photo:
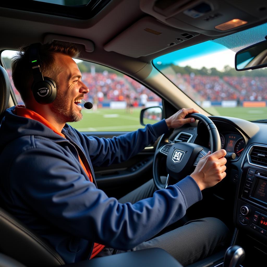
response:
[[[0,66],[0,120],[2,120],[3,113],[7,109],[9,97],[9,77],[6,70]],[[0,204],[0,206],[2,205]],[[58,266],[65,264],[49,244],[37,237],[28,227],[1,207],[0,238],[0,252],[26,266]],[[7,260],[5,261],[7,262]],[[1,261],[0,266],[4,266],[1,265]]]

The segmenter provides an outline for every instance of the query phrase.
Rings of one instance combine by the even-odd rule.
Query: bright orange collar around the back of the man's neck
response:
[[[42,117],[38,113],[28,108],[25,108],[24,105],[15,106],[14,114],[21,116],[21,117],[28,118],[28,119],[37,120],[41,122],[42,124],[44,124],[46,127],[50,128],[53,132],[65,138],[65,135],[59,132],[48,120],[46,120],[44,117]]]

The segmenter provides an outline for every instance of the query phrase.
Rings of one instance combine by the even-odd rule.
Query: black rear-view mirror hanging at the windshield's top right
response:
[[[235,54],[235,69],[259,69],[267,67],[267,40],[251,45]]]

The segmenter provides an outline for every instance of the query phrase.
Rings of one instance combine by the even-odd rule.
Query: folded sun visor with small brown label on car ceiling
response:
[[[144,17],[108,42],[104,49],[138,58],[177,46],[198,35],[172,28],[155,18]]]

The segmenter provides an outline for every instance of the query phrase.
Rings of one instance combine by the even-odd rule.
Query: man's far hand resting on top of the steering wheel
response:
[[[179,128],[183,126],[186,123],[192,123],[195,122],[194,118],[184,118],[186,115],[190,113],[200,113],[194,108],[182,108],[179,111],[177,111],[175,114],[170,116],[168,119],[166,119],[166,123],[168,128]]]

